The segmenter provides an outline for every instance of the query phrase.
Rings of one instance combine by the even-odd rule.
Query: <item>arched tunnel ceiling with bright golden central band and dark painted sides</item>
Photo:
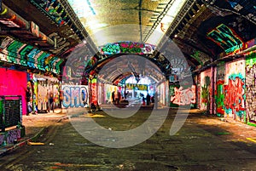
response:
[[[38,42],[38,47],[62,59],[67,59],[84,39],[91,56],[95,56],[99,46],[119,41],[168,48],[161,37],[165,35],[177,43],[189,66],[195,68],[244,48],[256,36],[255,0],[186,0],[175,15],[167,13],[175,4],[173,0],[3,0],[3,4],[56,41],[57,48],[52,42],[42,46]],[[24,30],[2,23],[0,32],[34,43]],[[160,33],[160,40],[152,36],[154,31]]]

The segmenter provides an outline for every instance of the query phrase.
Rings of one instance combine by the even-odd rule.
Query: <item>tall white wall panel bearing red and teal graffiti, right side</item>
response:
[[[245,119],[245,60],[226,63],[224,79],[225,117]]]

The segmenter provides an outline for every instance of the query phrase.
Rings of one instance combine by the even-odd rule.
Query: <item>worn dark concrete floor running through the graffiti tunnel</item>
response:
[[[115,119],[103,111],[94,116],[84,109],[74,113],[78,121],[93,117],[102,127],[124,131],[145,122],[151,110],[143,109],[129,119]],[[170,110],[153,136],[126,148],[108,148],[84,139],[67,117],[49,122],[37,140],[44,145],[25,145],[1,157],[0,170],[256,170],[254,127],[191,112],[171,136],[175,115],[176,111]],[[102,141],[109,140],[103,137]]]

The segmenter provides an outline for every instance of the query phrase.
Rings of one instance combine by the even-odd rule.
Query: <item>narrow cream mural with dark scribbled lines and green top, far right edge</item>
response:
[[[246,60],[246,106],[247,122],[256,123],[256,54],[247,55]]]

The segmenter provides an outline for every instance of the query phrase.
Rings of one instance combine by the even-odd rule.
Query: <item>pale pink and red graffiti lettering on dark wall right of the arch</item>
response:
[[[174,95],[171,101],[176,105],[190,105],[195,104],[195,85],[191,88],[183,89],[183,87],[174,88]]]

